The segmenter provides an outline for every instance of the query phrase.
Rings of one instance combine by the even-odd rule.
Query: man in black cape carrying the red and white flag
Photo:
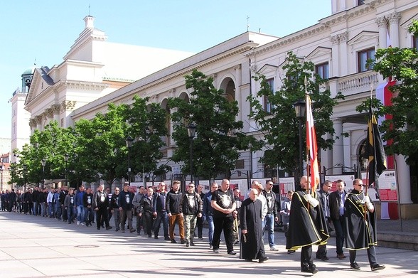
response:
[[[309,191],[308,178],[301,177],[301,186],[291,199],[287,250],[301,250],[301,272],[318,272],[312,260],[312,245],[326,244],[328,228],[316,192]]]

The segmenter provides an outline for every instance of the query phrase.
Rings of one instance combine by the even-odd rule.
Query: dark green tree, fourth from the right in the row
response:
[[[158,165],[163,158],[161,148],[167,136],[166,110],[158,103],[147,103],[149,98],[134,97],[134,103],[125,109],[125,119],[129,124],[127,134],[134,139],[132,144],[132,173],[154,173],[161,176],[169,167]]]

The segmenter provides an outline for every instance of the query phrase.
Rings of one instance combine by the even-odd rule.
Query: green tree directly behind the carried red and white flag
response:
[[[299,119],[296,118],[293,105],[297,100],[305,99],[305,78],[308,80],[306,90],[313,102],[318,149],[331,149],[333,146],[335,132],[330,117],[337,100],[343,96],[338,92],[336,97],[331,97],[329,90],[321,89],[326,80],[315,73],[314,63],[302,62],[292,52],[287,53],[283,70],[286,71],[286,76],[277,92],[269,86],[264,76],[254,77],[254,80],[260,82],[260,90],[256,95],[247,98],[252,107],[249,117],[257,122],[259,132],[264,135],[264,148],[267,151],[264,152],[261,161],[271,168],[279,166],[286,171],[294,171],[299,176]],[[264,109],[263,103],[260,102],[262,98],[269,101],[270,111]],[[303,130],[306,130],[305,122]],[[325,134],[331,134],[331,139],[326,139]],[[302,136],[306,141],[305,132]],[[302,151],[305,155],[306,148]]]

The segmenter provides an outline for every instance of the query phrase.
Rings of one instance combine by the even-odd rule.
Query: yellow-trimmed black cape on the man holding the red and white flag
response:
[[[329,238],[321,202],[314,208],[306,201],[306,193],[307,191],[299,186],[291,199],[287,250],[296,250],[312,244],[323,245]],[[318,200],[316,192],[314,198]]]

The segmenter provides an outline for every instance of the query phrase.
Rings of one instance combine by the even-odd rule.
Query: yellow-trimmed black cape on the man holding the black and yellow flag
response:
[[[364,197],[363,191],[353,190],[344,202],[345,247],[348,250],[368,249],[370,245],[377,245],[376,214],[370,213],[365,207]]]

